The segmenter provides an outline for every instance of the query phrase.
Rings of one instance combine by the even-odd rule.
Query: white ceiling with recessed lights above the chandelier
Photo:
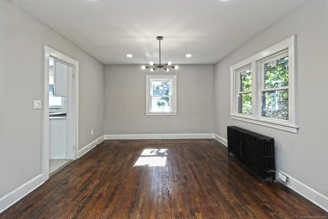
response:
[[[308,0],[11,1],[103,64],[215,64]]]

